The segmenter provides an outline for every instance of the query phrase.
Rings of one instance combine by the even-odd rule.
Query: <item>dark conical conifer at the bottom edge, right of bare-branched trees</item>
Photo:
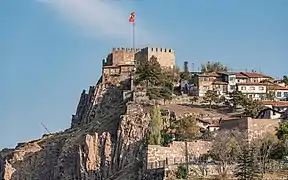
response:
[[[248,145],[242,149],[237,157],[235,176],[239,180],[253,180],[260,177],[257,154]]]

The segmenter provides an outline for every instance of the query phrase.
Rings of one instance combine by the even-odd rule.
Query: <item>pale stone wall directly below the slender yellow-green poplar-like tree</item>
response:
[[[199,157],[211,149],[210,141],[187,142],[189,159]],[[169,147],[160,145],[148,145],[148,163],[168,161],[167,164],[177,164],[185,162],[185,142],[174,141]]]

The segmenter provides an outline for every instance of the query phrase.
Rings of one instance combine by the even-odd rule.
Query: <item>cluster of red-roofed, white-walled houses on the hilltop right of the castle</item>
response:
[[[194,74],[194,78],[192,94],[199,97],[204,97],[208,90],[215,90],[219,95],[226,97],[238,90],[253,100],[265,100],[269,91],[273,91],[276,100],[288,98],[288,87],[273,82],[270,76],[256,72],[197,73]]]

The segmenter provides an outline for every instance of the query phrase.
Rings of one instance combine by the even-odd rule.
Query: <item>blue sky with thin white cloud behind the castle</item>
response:
[[[287,0],[0,0],[0,149],[63,131],[113,47],[288,74]]]

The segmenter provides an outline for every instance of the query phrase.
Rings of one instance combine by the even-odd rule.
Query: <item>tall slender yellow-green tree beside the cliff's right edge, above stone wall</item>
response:
[[[162,130],[162,117],[160,107],[153,106],[151,112],[151,121],[149,124],[149,139],[148,144],[160,145],[161,144],[161,130]]]

